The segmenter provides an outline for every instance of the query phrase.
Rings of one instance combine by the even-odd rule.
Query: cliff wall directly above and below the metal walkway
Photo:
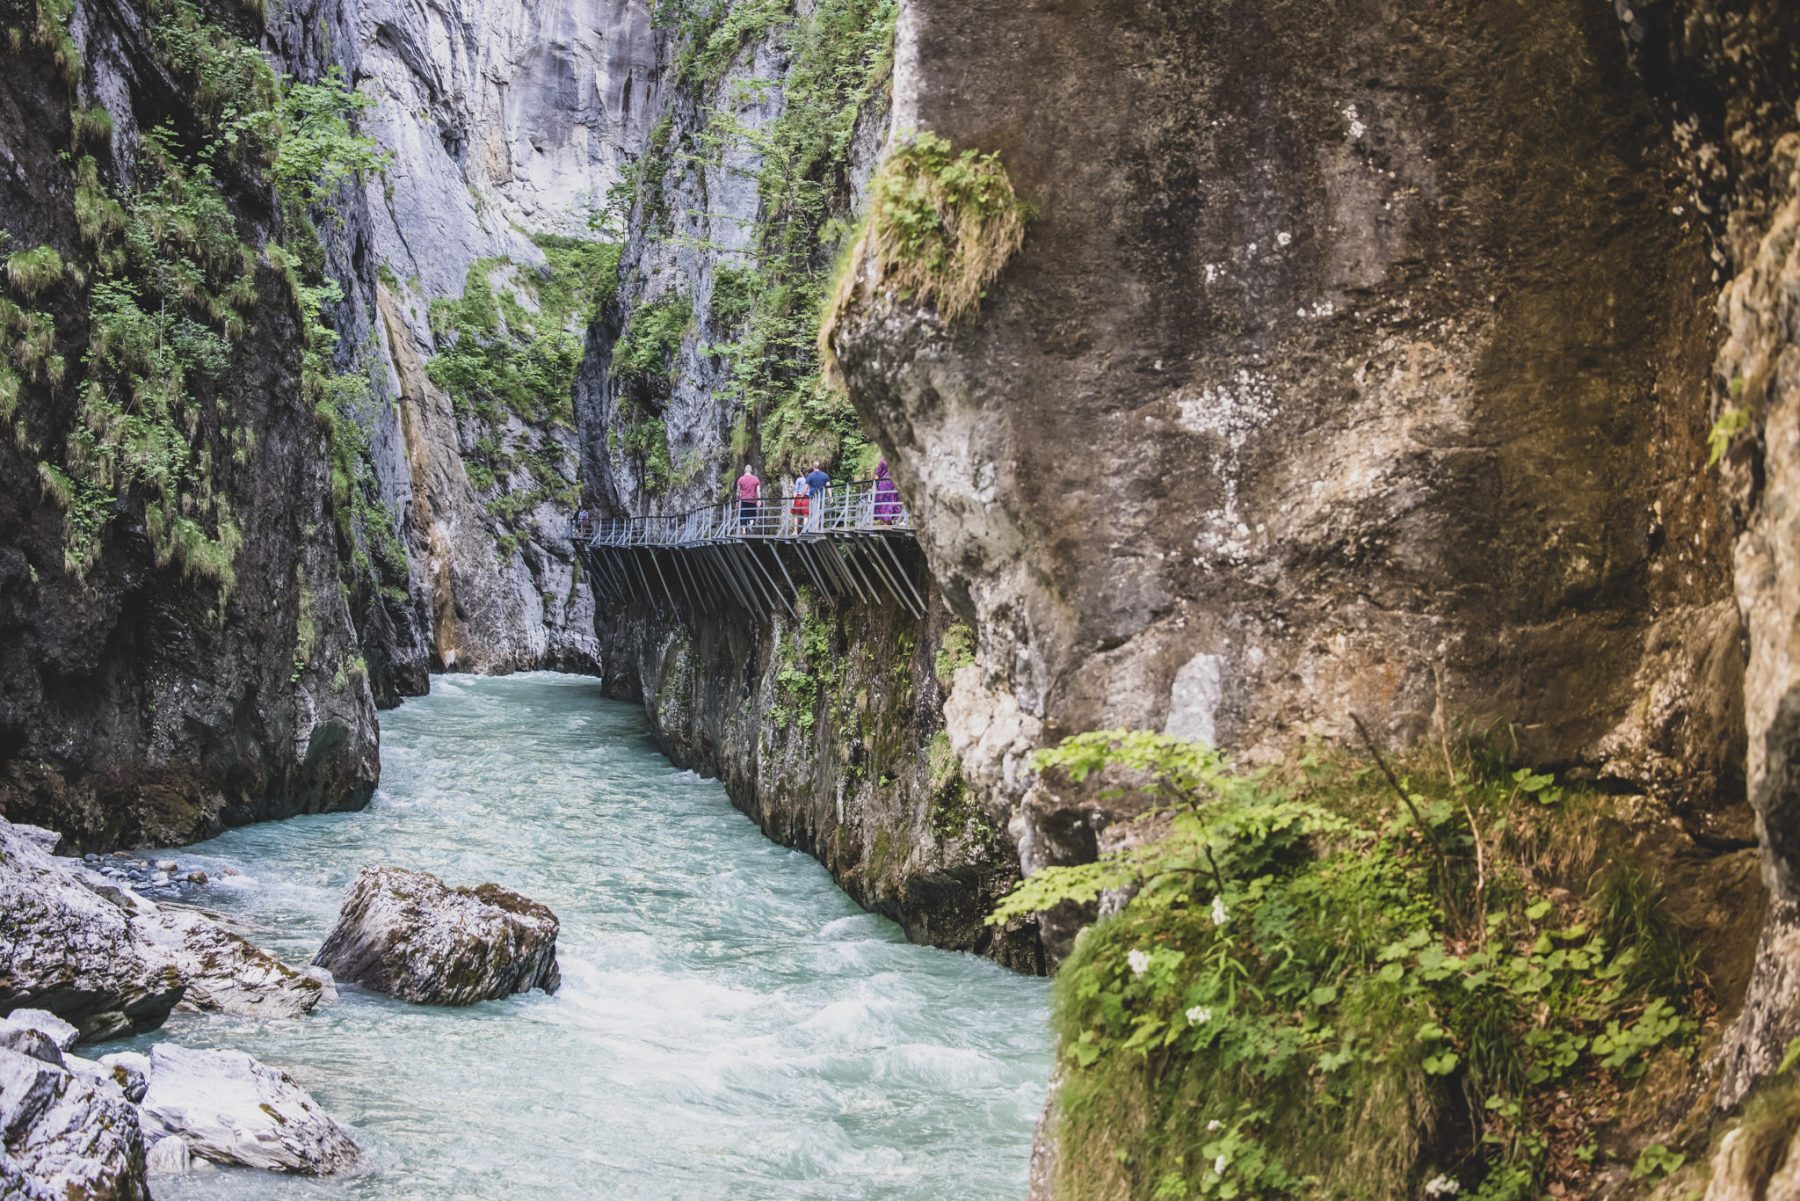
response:
[[[662,83],[650,94],[648,113],[655,137],[641,148],[635,169],[639,198],[626,227],[619,299],[589,335],[576,389],[583,479],[599,513],[682,511],[722,495],[745,454],[774,483],[778,468],[788,466],[778,456],[830,457],[839,445],[823,429],[828,421],[796,430],[742,396],[738,378],[754,362],[747,346],[754,337],[743,328],[742,297],[733,301],[727,284],[749,274],[754,288],[776,290],[776,272],[794,266],[772,266],[767,247],[790,247],[828,270],[823,225],[855,212],[886,128],[886,97],[880,79],[866,92],[851,86],[842,103],[855,121],[842,144],[821,149],[821,158],[788,162],[781,155],[796,153],[806,137],[796,131],[828,119],[796,112],[788,85],[794,72],[853,79],[869,68],[857,58],[821,68],[808,20],[839,22],[826,34],[835,45],[866,25],[880,27],[884,9],[833,2],[772,27],[749,18],[751,11],[743,4],[716,13],[722,23],[743,20],[760,32],[716,63],[711,77],[682,67],[682,22],[659,29]],[[882,45],[871,50],[875,59],[882,52]],[[819,104],[815,88],[801,92],[801,106]],[[767,180],[787,171],[824,180],[817,229],[803,220],[772,225],[788,218],[779,196],[765,194]],[[666,369],[619,378],[612,369],[617,339],[646,315],[682,304],[691,321],[668,346]],[[790,353],[803,366],[812,348],[781,357]],[[806,387],[787,378],[781,385]],[[842,427],[848,418],[841,414]],[[644,430],[652,432],[648,447]],[[916,571],[918,560],[907,555]],[[1035,929],[983,924],[1017,880],[1017,852],[1004,801],[986,807],[965,787],[943,735],[945,684],[967,654],[968,630],[927,591],[923,621],[898,607],[833,609],[810,594],[796,600],[797,616],[778,612],[772,621],[738,609],[720,616],[614,601],[599,614],[601,675],[610,695],[644,704],[670,758],[718,776],[769,837],[815,855],[851,897],[893,917],[909,938],[1042,971]]]

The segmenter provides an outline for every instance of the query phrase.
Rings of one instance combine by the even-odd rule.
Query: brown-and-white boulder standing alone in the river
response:
[[[450,888],[428,871],[364,868],[313,963],[425,1005],[556,992],[558,926],[549,908],[499,884]]]

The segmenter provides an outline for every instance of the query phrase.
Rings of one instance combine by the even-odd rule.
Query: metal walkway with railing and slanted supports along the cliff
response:
[[[794,619],[801,587],[828,601],[898,603],[925,616],[925,567],[913,517],[898,493],[873,479],[833,483],[810,497],[725,501],[688,513],[614,517],[571,526],[569,538],[594,589],[616,605],[670,605],[758,618],[785,609]]]

